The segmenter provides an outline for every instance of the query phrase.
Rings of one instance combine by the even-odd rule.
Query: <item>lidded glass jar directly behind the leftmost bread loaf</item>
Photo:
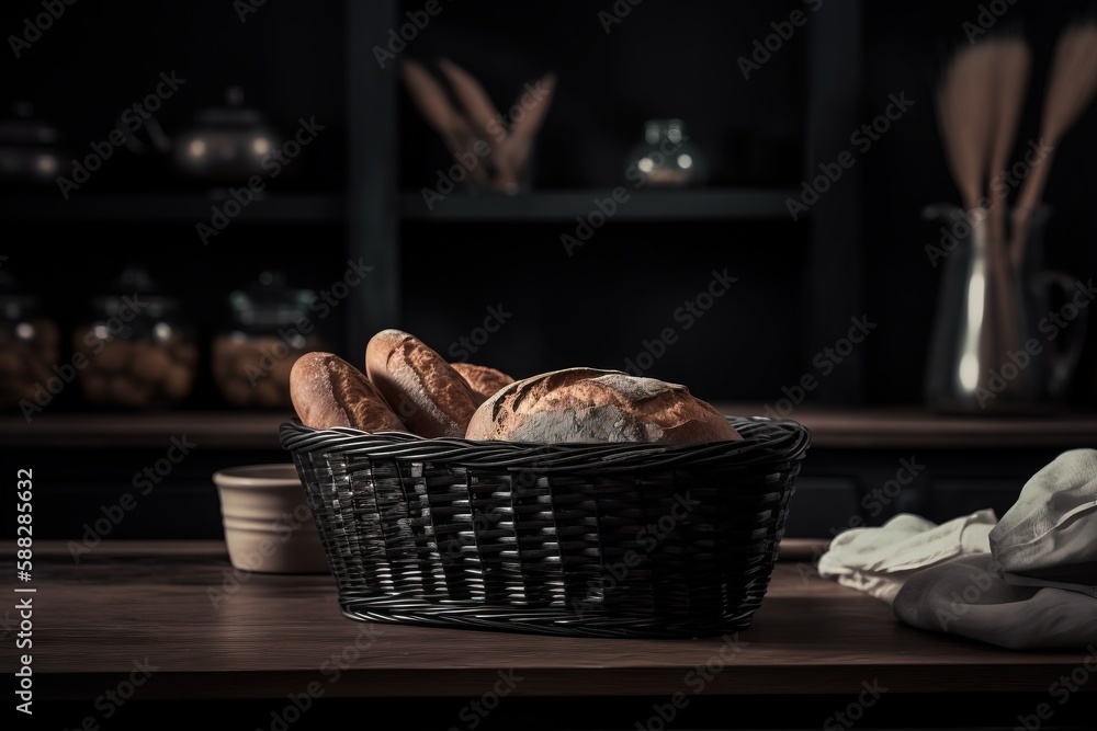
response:
[[[263,272],[228,297],[230,327],[213,343],[213,376],[225,400],[245,409],[292,409],[290,370],[325,350],[309,317],[312,289],[294,289],[281,272]]]

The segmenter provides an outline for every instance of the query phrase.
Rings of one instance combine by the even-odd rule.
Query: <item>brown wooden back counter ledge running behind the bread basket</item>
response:
[[[713,404],[722,413],[766,413],[756,403]],[[215,448],[281,449],[279,426],[291,412],[43,413],[30,424],[0,419],[0,447],[157,447],[185,434]],[[824,449],[1068,449],[1097,444],[1097,413],[1049,416],[946,416],[916,409],[798,408],[790,419]]]

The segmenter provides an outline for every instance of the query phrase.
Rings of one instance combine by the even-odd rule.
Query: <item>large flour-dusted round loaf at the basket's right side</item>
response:
[[[479,406],[465,437],[666,445],[743,438],[685,386],[597,368],[565,368],[504,387]]]

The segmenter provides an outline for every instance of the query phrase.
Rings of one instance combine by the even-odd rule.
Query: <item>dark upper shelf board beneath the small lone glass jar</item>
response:
[[[625,189],[627,190],[627,189]],[[791,221],[785,199],[792,189],[728,187],[627,191],[612,220],[780,220]],[[574,221],[612,201],[613,189],[542,191],[521,195],[452,194],[428,207],[421,192],[403,195],[404,217],[432,221]],[[607,204],[608,207],[609,204]]]

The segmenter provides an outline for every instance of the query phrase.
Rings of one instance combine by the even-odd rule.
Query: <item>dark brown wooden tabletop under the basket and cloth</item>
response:
[[[874,682],[914,694],[1045,693],[1087,659],[907,627],[886,604],[815,575],[812,549],[788,544],[751,627],[727,639],[361,623],[340,614],[330,576],[234,572],[220,541],[104,541],[79,563],[64,542],[38,541],[32,581],[18,585],[36,591],[13,596],[32,597],[39,699],[93,698],[143,663],[156,669],[143,697],[163,699],[284,698],[312,683],[328,697],[480,695],[500,672],[522,678],[516,696],[671,695],[690,693],[704,666],[719,669],[706,695],[857,694]],[[14,576],[10,541],[3,556]],[[2,619],[14,632],[18,618]],[[9,636],[4,666],[20,652]]]

